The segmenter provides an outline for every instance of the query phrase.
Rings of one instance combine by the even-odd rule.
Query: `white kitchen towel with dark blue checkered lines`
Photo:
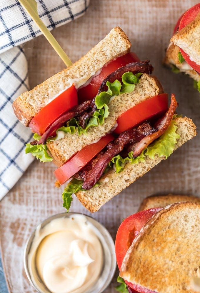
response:
[[[80,17],[89,5],[89,0],[36,1],[50,30]],[[32,134],[17,120],[11,104],[29,90],[27,60],[20,45],[40,34],[17,0],[0,0],[0,200],[34,159],[24,152]]]

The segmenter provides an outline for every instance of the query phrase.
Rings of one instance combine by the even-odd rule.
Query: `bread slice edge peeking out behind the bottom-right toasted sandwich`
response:
[[[147,210],[150,208],[164,208],[166,205],[171,205],[172,203],[178,203],[180,201],[194,201],[196,203],[200,203],[200,197],[192,196],[192,195],[153,195],[146,197],[140,207],[139,212],[141,210]]]

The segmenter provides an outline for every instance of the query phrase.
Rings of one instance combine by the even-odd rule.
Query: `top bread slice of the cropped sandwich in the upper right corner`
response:
[[[184,50],[190,59],[200,65],[200,13],[195,19],[171,38],[176,46]]]

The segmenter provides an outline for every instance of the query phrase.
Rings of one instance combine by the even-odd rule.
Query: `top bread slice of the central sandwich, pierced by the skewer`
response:
[[[85,56],[70,67],[53,75],[34,89],[16,98],[13,109],[22,124],[31,119],[59,92],[69,86],[69,79],[80,79],[84,84],[103,65],[130,51],[131,43],[120,27],[115,27]]]

